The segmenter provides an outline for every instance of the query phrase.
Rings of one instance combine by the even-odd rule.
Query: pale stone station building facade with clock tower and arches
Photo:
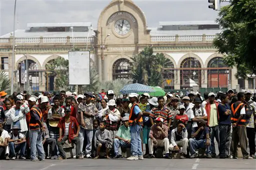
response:
[[[168,59],[163,72],[165,89],[252,88],[251,80],[236,79],[235,68],[223,62],[212,45],[221,31],[213,21],[159,22],[148,27],[143,11],[131,0],[113,0],[100,13],[97,27],[91,23],[30,23],[15,31],[15,82],[20,63],[27,61],[33,91],[53,90],[54,77],[45,65],[68,51],[90,51],[90,65],[102,81],[130,79],[131,57],[146,46]],[[0,37],[1,69],[11,75],[12,33]]]

